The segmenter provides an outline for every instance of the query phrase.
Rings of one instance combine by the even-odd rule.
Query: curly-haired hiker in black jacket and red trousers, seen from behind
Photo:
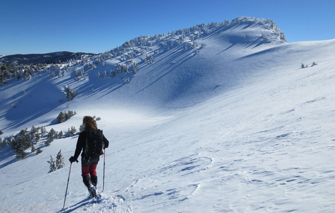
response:
[[[98,129],[97,123],[91,116],[85,116],[82,119],[85,131],[80,132],[74,155],[70,157],[70,162],[78,162],[77,158],[81,153],[81,176],[92,197],[100,197],[97,192],[97,165],[103,150],[108,147],[109,141]]]

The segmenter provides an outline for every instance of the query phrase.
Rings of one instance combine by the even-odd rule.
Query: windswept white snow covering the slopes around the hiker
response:
[[[47,173],[46,161],[59,149],[65,159],[73,155],[77,136],[55,140],[24,160],[1,148],[0,210],[334,212],[335,40],[259,44],[264,26],[217,29],[196,40],[206,45],[196,56],[162,52],[129,84],[97,77],[106,69],[98,68],[82,81],[67,71],[60,79],[42,75],[2,85],[5,136],[32,125],[78,129],[82,116],[96,115],[110,147],[106,199],[88,200],[80,163],[73,163],[62,211],[69,163]],[[68,84],[78,93],[72,101],[62,98]],[[38,110],[27,105],[47,97],[54,102],[40,101]],[[14,102],[16,108],[8,107]],[[77,114],[56,124],[65,109]]]

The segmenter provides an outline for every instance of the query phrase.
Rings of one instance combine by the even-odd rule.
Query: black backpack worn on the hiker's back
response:
[[[89,130],[86,134],[85,154],[87,156],[100,156],[104,148],[104,136],[102,130]]]

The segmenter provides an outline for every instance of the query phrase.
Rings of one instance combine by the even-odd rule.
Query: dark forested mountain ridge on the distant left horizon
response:
[[[71,59],[81,59],[82,56],[93,56],[92,53],[72,53],[72,52],[54,52],[45,54],[16,54],[10,56],[0,56],[0,64],[56,64],[66,62]]]

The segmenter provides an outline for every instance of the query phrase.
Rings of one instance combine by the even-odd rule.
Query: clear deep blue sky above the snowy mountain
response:
[[[289,43],[335,39],[333,0],[0,0],[0,55],[101,53],[141,35],[249,16]]]

